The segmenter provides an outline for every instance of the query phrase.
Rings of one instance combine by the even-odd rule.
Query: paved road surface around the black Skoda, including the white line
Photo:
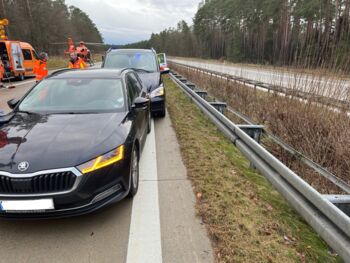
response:
[[[0,109],[34,84],[0,89]],[[206,230],[169,117],[155,119],[140,160],[140,187],[94,214],[59,220],[0,220],[0,262],[213,262]]]

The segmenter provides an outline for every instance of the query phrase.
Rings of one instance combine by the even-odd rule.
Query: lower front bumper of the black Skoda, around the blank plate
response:
[[[53,199],[54,209],[44,211],[0,211],[0,217],[32,219],[62,218],[87,214],[127,196],[130,187],[130,160],[81,175],[72,191],[45,195],[4,195],[1,201]]]

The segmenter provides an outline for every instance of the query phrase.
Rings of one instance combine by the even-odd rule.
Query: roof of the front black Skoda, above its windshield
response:
[[[74,79],[74,78],[109,78],[120,79],[123,72],[128,69],[64,69],[52,73],[49,79]]]

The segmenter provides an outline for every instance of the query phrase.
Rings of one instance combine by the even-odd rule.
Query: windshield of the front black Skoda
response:
[[[19,111],[99,113],[125,111],[120,79],[47,79],[24,98]]]

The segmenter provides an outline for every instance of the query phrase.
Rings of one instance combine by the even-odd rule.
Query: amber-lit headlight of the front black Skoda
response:
[[[79,165],[77,168],[83,174],[91,173],[108,165],[117,163],[124,158],[124,145],[119,146],[117,149],[110,151],[104,155],[101,155],[89,162]]]

